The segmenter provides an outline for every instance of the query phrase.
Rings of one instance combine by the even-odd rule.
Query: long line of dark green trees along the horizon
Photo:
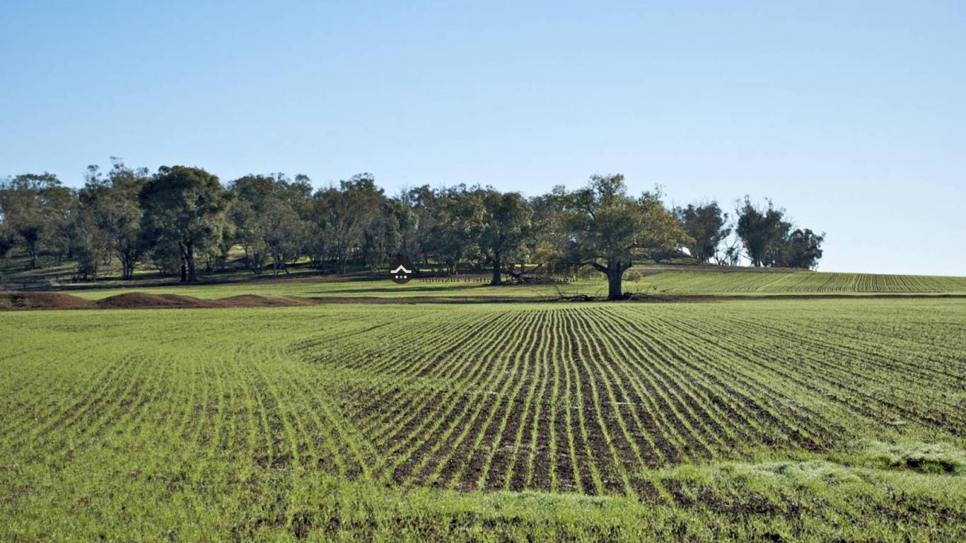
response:
[[[668,208],[660,189],[633,195],[623,176],[525,197],[490,186],[416,186],[388,196],[372,174],[314,189],[303,175],[247,175],[226,186],[202,168],[132,169],[117,158],[89,166],[84,186],[23,174],[0,182],[0,258],[14,248],[76,262],[96,279],[117,259],[193,282],[224,269],[241,247],[253,273],[297,261],[326,272],[377,270],[403,257],[422,270],[487,271],[492,283],[533,273],[603,273],[610,298],[635,262],[686,256],[697,263],[811,269],[823,235],[795,228],[783,209],[749,197],[734,214],[717,202]]]

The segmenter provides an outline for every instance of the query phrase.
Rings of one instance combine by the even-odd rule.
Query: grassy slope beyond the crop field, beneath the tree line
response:
[[[299,297],[444,297],[546,300],[563,296],[606,296],[603,275],[560,286],[519,285],[490,287],[489,275],[459,275],[427,280],[415,279],[400,286],[384,279],[384,273],[323,275],[301,263],[291,274],[254,275],[241,265],[241,252],[233,253],[226,270],[204,277],[202,284],[182,285],[177,277],[162,276],[147,267],[135,279],[117,278],[117,263],[108,265],[97,282],[71,282],[72,262],[56,263],[44,257],[43,268],[30,270],[26,257],[0,261],[0,291],[54,290],[71,292],[88,300],[128,292],[180,294],[203,299],[238,295]],[[627,292],[659,295],[769,296],[821,294],[966,294],[966,276],[889,275],[876,273],[809,272],[789,269],[753,269],[718,266],[639,266],[627,275]]]

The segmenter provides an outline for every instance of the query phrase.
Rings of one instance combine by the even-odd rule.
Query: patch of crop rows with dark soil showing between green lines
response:
[[[298,355],[359,376],[347,416],[379,451],[374,473],[408,484],[634,494],[668,463],[822,450],[869,427],[966,429],[961,325],[923,342],[921,327],[873,330],[821,305],[781,319],[730,305],[474,310],[376,348]]]

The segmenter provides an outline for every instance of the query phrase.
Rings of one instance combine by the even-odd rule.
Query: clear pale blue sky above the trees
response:
[[[819,269],[966,274],[966,2],[0,3],[0,176],[372,172],[771,197]]]

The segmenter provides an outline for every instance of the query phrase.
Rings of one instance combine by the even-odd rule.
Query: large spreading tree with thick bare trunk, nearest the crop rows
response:
[[[569,235],[566,260],[606,275],[608,300],[624,298],[621,281],[636,259],[693,241],[659,193],[632,197],[620,174],[595,175],[587,186],[570,193],[561,219]]]

